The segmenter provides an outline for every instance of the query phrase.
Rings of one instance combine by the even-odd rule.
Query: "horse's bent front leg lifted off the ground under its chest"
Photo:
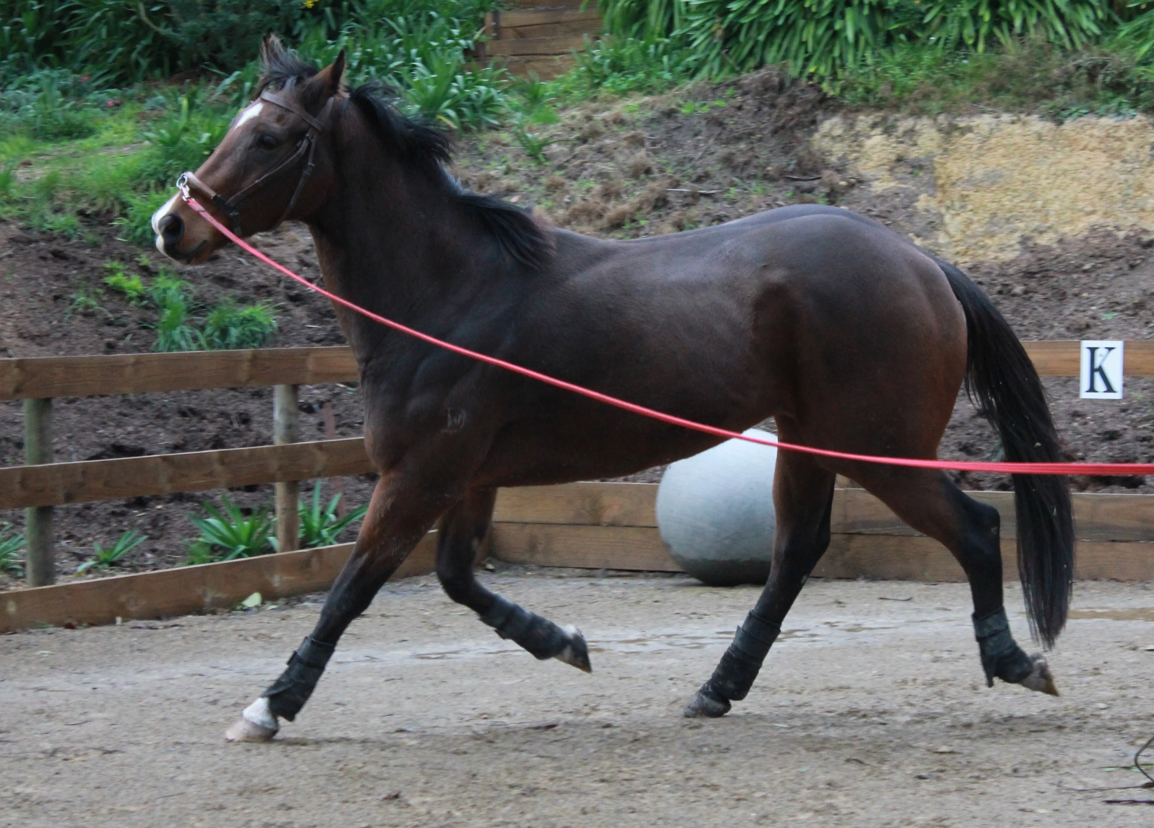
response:
[[[445,594],[480,615],[501,638],[511,639],[540,660],[557,658],[591,672],[589,648],[576,630],[560,626],[494,595],[477,582],[473,566],[493,518],[494,489],[469,489],[464,499],[441,518],[436,574]]]

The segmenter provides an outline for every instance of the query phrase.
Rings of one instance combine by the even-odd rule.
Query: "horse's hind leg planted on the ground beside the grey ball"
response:
[[[769,581],[713,676],[685,707],[687,716],[724,716],[730,702],[741,701],[749,693],[781,632],[781,622],[830,545],[833,481],[833,472],[819,467],[805,454],[778,454],[773,481],[778,528]]]

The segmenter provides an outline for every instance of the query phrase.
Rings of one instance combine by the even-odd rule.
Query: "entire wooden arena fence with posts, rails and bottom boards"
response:
[[[1077,341],[1025,343],[1043,377],[1079,374]],[[1154,376],[1154,340],[1125,344],[1125,372]],[[0,593],[0,631],[37,623],[108,623],[231,607],[253,592],[280,597],[328,588],[352,544],[297,550],[298,482],[375,471],[361,438],[298,442],[297,387],[359,379],[346,347],[270,348],[0,360],[0,399],[23,400],[25,465],[0,468],[0,510],[27,510],[29,586]],[[52,400],[123,393],[275,386],[275,445],[53,462]],[[92,500],[276,483],[280,554],[59,586],[52,509]],[[657,485],[574,483],[507,489],[489,554],[522,564],[677,571],[657,530]],[[1012,492],[972,492],[1002,512],[1007,572],[1016,567]],[[1074,495],[1081,579],[1154,580],[1154,496]],[[834,496],[833,541],[815,574],[951,581],[962,573],[860,489]],[[297,550],[297,551],[292,551]],[[432,536],[398,572],[430,572]]]

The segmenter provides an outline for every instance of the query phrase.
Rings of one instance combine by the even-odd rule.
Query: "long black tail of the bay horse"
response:
[[[1006,460],[1059,462],[1046,392],[1009,323],[977,285],[938,261],[966,313],[966,393],[1002,437]],[[1066,624],[1074,571],[1070,485],[1064,476],[1013,475],[1018,511],[1018,572],[1031,632],[1047,647]]]

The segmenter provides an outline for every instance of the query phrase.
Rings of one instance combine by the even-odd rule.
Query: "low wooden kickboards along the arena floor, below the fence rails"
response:
[[[1007,579],[1017,578],[1011,492],[972,492],[1002,513]],[[1074,497],[1076,577],[1154,580],[1154,496]],[[677,572],[657,529],[653,483],[570,483],[504,489],[488,554],[507,563]],[[913,532],[861,489],[834,492],[832,541],[815,575],[961,581],[961,567],[936,541]],[[265,600],[328,589],[352,544],[202,566],[0,593],[0,632],[38,625],[108,624],[230,608],[254,592]],[[396,578],[434,569],[435,534]]]

